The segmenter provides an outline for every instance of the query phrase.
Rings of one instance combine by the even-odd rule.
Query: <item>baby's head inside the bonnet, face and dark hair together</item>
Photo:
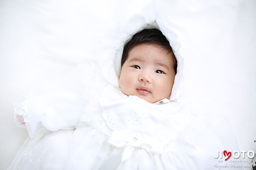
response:
[[[119,85],[126,95],[156,103],[170,98],[177,61],[166,37],[144,29],[124,46]]]

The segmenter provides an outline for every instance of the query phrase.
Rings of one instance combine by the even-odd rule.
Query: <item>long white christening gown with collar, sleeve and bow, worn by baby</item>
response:
[[[238,150],[231,129],[208,127],[187,100],[148,103],[85,72],[84,95],[16,105],[30,137],[8,170],[210,170],[225,164],[216,150]]]

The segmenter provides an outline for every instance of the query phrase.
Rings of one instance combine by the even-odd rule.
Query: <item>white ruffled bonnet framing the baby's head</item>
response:
[[[150,6],[146,6],[144,8],[150,8]],[[113,37],[116,39],[111,40],[111,46],[109,45],[110,40],[106,40],[106,43],[108,42],[110,47],[106,48],[106,50],[100,54],[101,56],[105,55],[104,60],[102,60],[100,63],[102,67],[102,73],[110,83],[119,86],[118,76],[120,75],[121,71],[121,59],[124,44],[126,44],[134,34],[145,28],[157,28],[164,34],[164,36],[166,36],[167,40],[170,42],[178,62],[177,74],[175,76],[172,94],[170,96],[171,101],[176,100],[179,96],[180,83],[183,77],[182,70],[184,65],[183,59],[178,52],[180,45],[177,42],[177,36],[171,28],[166,26],[160,20],[160,18],[155,17],[155,14],[150,12],[151,10],[144,11],[148,12],[133,15],[127,21],[124,21],[122,25],[116,28],[115,33],[110,33],[110,35],[115,34]],[[109,36],[109,38],[111,38],[111,36]]]

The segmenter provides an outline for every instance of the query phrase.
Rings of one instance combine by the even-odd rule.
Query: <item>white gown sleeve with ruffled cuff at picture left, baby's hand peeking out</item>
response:
[[[39,132],[76,128],[87,103],[83,96],[83,67],[76,67],[47,90],[33,92],[25,101],[14,103],[16,124],[27,128],[30,137]]]

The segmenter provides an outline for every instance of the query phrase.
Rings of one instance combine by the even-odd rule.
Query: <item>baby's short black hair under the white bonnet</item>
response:
[[[122,60],[121,60],[121,67],[124,65],[124,62],[128,58],[129,52],[140,44],[151,44],[151,45],[157,45],[160,48],[163,48],[168,53],[173,53],[172,47],[170,46],[169,41],[166,39],[166,37],[162,34],[162,32],[156,28],[154,29],[144,29],[132,36],[132,39],[124,45],[124,51],[122,54]],[[173,56],[174,61],[174,70],[176,73],[177,70],[177,60]]]

